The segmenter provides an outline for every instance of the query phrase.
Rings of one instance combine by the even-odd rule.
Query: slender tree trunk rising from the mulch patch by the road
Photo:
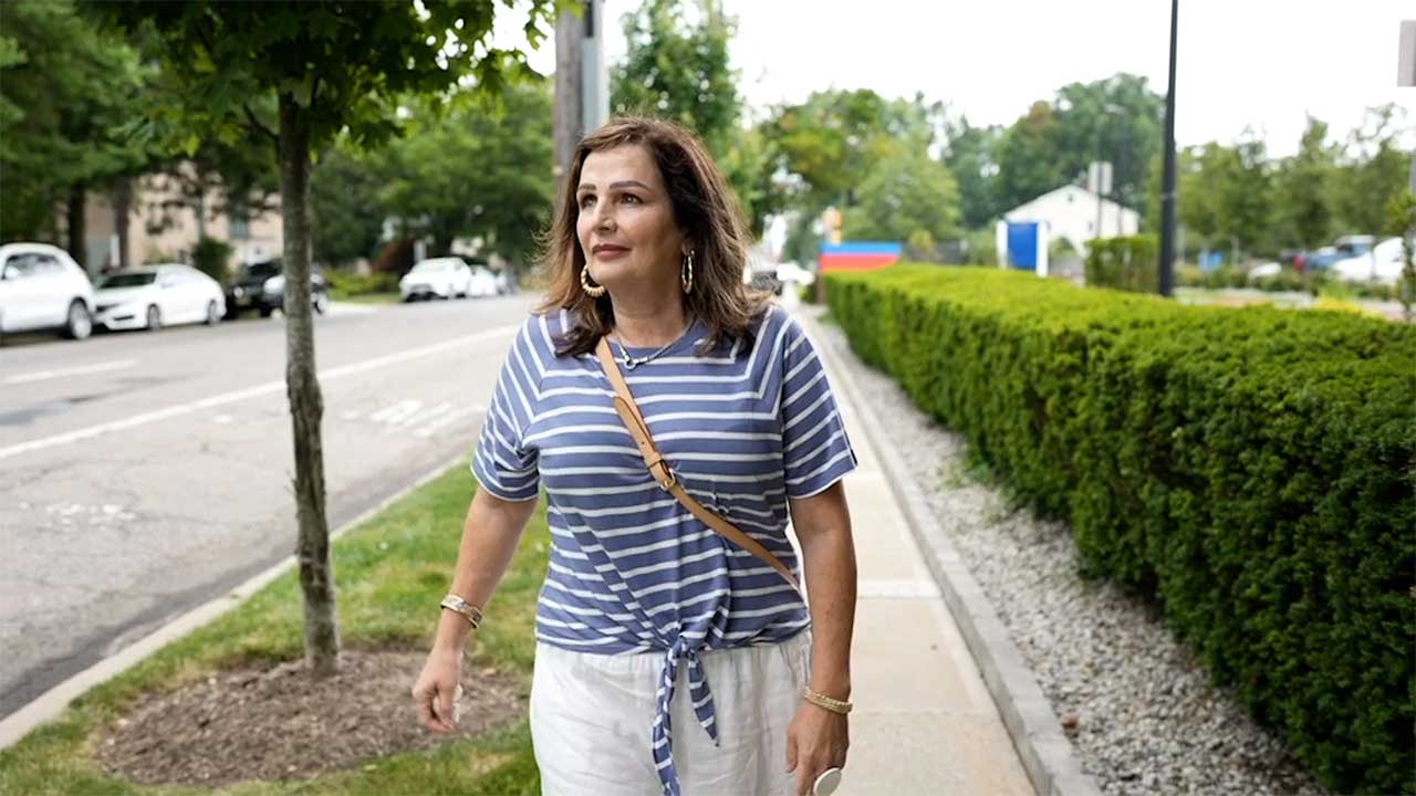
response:
[[[280,211],[285,228],[285,384],[295,432],[296,555],[304,593],[304,660],[317,677],[338,670],[340,627],[324,514],[324,401],[314,370],[310,313],[310,126],[306,110],[280,93]]]

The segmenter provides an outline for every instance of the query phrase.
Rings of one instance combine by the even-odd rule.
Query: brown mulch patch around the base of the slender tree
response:
[[[109,773],[150,785],[304,779],[525,715],[517,677],[464,664],[457,732],[429,732],[409,695],[425,660],[416,652],[346,650],[341,671],[321,681],[300,661],[219,671],[140,698],[105,728],[96,756]]]

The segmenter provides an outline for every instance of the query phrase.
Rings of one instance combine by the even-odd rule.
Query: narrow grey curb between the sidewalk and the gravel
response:
[[[854,356],[838,350],[837,344],[821,333],[816,316],[803,309],[800,317],[811,327],[811,339],[827,347],[833,358]],[[993,701],[1003,715],[1012,745],[1022,761],[1022,768],[1032,780],[1039,796],[1100,796],[1096,780],[1082,771],[1082,763],[1072,749],[1072,742],[1062,732],[1062,722],[1052,712],[1052,704],[1032,677],[1022,654],[1008,636],[987,595],[974,581],[969,567],[959,557],[953,542],[944,534],[942,523],[925,500],[923,490],[915,480],[908,462],[885,443],[881,422],[865,409],[861,391],[850,368],[841,364],[833,368],[837,387],[858,409],[855,416],[871,439],[878,440],[875,453],[891,483],[895,499],[915,541],[919,544],[929,571],[939,584],[944,603],[953,615],[959,630],[969,646],[969,653],[978,664],[984,684],[993,694]]]

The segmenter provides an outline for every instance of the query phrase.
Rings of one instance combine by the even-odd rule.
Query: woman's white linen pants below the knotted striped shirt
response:
[[[780,644],[700,653],[718,741],[698,725],[688,666],[670,705],[674,766],[684,796],[790,796],[787,727],[811,673],[811,633]],[[542,796],[658,796],[650,749],[664,653],[588,654],[535,649],[531,742]]]

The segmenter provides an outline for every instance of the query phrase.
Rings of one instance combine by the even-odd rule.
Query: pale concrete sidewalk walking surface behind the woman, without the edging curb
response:
[[[803,313],[807,310],[803,310]],[[851,650],[851,752],[840,796],[1034,793],[881,467],[878,440],[803,313],[860,469],[845,477],[860,567]]]

